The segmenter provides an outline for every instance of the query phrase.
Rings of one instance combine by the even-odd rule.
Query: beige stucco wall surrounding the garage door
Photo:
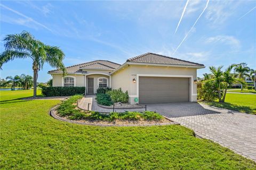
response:
[[[137,94],[137,79],[138,74],[150,74],[152,76],[157,75],[183,75],[190,76],[190,101],[196,101],[196,83],[194,80],[197,78],[197,69],[186,67],[170,67],[170,66],[146,66],[146,65],[130,65],[125,67],[119,72],[111,75],[111,87],[113,89],[122,88],[123,91],[129,92],[130,101],[133,103],[135,97],[139,97]],[[132,80],[136,79],[136,83]],[[193,90],[191,90],[193,86]]]

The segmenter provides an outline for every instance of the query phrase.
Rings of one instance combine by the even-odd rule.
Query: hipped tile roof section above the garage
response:
[[[151,63],[151,64],[171,64],[171,65],[189,65],[189,66],[204,66],[203,64],[180,60],[164,55],[146,53],[136,57],[132,57],[127,62],[134,63]]]

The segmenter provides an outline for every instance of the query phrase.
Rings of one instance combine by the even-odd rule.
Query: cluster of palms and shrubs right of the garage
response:
[[[241,90],[247,86],[245,80],[252,80],[255,89],[256,70],[246,63],[231,64],[222,71],[223,66],[210,66],[211,73],[203,74],[204,78],[197,83],[197,98],[207,101],[218,99],[225,102],[227,89],[234,84],[241,84]],[[233,72],[232,72],[233,71]]]

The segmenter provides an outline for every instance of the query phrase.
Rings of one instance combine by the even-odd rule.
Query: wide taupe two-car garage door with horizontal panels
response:
[[[139,103],[189,101],[189,78],[139,77]]]

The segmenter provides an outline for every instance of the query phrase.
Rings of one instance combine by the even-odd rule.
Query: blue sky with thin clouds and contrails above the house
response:
[[[5,35],[27,30],[59,46],[66,66],[93,60],[123,64],[153,52],[204,64],[199,77],[211,65],[245,62],[256,69],[256,1],[1,1],[0,9],[1,52]],[[1,78],[33,75],[29,59],[2,69]],[[51,78],[49,70],[46,64],[38,82]]]

